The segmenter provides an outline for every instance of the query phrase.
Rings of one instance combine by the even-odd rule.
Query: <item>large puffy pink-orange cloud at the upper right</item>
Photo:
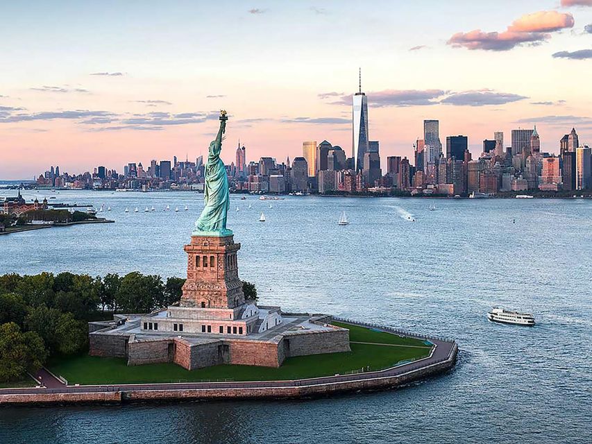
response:
[[[456,33],[448,44],[455,48],[508,51],[523,43],[539,44],[548,40],[552,32],[572,28],[571,14],[557,11],[540,11],[523,15],[507,27],[506,31],[485,33],[480,29],[468,33]]]

